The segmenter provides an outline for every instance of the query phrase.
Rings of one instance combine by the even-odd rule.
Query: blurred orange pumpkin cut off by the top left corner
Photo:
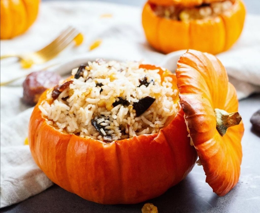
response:
[[[1,0],[0,38],[9,39],[24,33],[36,20],[40,0]]]

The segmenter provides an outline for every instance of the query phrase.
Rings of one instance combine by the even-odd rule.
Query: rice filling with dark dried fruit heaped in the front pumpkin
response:
[[[60,132],[106,143],[159,132],[175,115],[177,89],[159,69],[140,62],[97,60],[72,70],[74,78],[47,93],[39,108]]]

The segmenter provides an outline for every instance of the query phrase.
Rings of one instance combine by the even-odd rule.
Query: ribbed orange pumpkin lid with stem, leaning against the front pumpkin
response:
[[[206,182],[223,196],[238,182],[242,160],[244,127],[236,89],[215,56],[196,50],[180,57],[176,76],[180,105]]]

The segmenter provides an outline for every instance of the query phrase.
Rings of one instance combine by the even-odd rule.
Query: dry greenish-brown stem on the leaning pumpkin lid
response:
[[[221,136],[223,136],[228,127],[235,126],[242,120],[241,115],[238,112],[228,113],[223,109],[214,109],[217,119],[217,130]]]

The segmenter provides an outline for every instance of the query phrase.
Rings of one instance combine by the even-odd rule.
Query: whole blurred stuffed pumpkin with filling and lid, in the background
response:
[[[226,2],[228,9],[221,11]],[[163,53],[196,49],[217,54],[237,41],[245,13],[242,0],[149,0],[142,11],[142,25],[147,41]]]

